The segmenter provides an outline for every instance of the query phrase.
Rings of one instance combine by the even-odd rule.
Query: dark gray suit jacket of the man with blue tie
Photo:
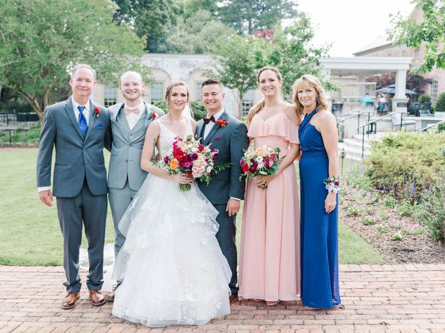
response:
[[[99,117],[95,116],[99,108]],[[108,110],[90,101],[88,132],[83,137],[74,114],[71,97],[49,105],[44,110],[37,157],[37,186],[51,185],[51,157],[56,146],[53,194],[74,198],[80,193],[86,178],[94,196],[106,194],[104,137],[109,120]]]

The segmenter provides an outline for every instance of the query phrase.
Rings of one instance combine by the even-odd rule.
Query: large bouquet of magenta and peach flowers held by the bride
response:
[[[186,139],[177,137],[163,160],[153,163],[161,169],[167,170],[169,175],[185,173],[188,177],[209,184],[212,175],[230,165],[230,163],[215,162],[218,153],[218,149],[203,146],[192,135],[188,135]],[[191,189],[191,185],[179,184],[179,189],[188,191]]]

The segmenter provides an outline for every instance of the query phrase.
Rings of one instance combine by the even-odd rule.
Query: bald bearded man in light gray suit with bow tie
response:
[[[124,96],[124,103],[111,108],[111,122],[108,126],[106,148],[111,150],[110,166],[108,167],[108,196],[111,213],[113,214],[115,256],[118,255],[125,237],[118,225],[120,219],[142,185],[147,172],[140,169],[140,155],[145,140],[147,126],[164,112],[143,101],[145,89],[140,74],[127,71],[119,80],[119,89]],[[113,286],[106,299],[113,302],[115,289],[122,281]]]

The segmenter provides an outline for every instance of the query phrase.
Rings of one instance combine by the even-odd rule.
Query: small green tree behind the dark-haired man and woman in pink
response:
[[[243,95],[257,86],[258,59],[262,58],[262,40],[250,36],[234,35],[225,37],[213,45],[213,59],[216,60],[214,76],[229,89],[236,89],[235,99],[238,110],[243,109]]]

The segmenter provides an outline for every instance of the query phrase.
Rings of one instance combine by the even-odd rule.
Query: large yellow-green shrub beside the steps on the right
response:
[[[445,133],[388,135],[371,144],[364,160],[366,174],[373,187],[414,203],[445,169],[444,146]]]

